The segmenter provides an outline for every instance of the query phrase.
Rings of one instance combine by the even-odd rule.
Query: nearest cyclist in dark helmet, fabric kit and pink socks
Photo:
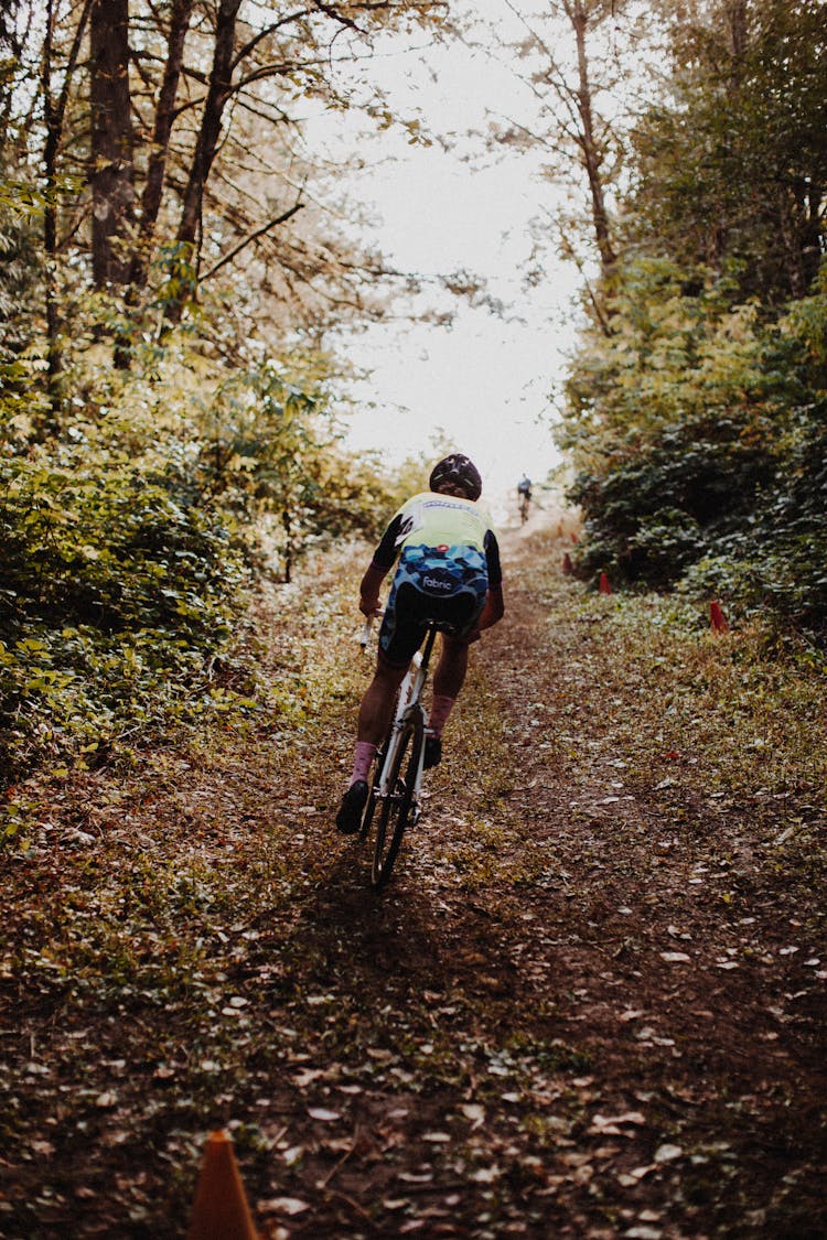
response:
[[[376,672],[360,707],[351,782],[336,816],[345,835],[358,831],[371,763],[428,624],[439,620],[444,629],[425,768],[441,760],[443,728],[465,681],[470,642],[505,614],[500,551],[490,517],[476,502],[482,492],[476,466],[454,453],[434,466],[428,485],[429,491],[414,495],[392,518],[360,587],[362,614],[379,615],[379,587],[399,557],[379,630]]]

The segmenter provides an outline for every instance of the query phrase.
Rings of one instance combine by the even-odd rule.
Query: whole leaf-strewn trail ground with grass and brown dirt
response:
[[[185,1234],[214,1127],[270,1240],[827,1234],[823,681],[536,520],[383,897],[362,551],[260,601],[263,707],[16,791],[0,1235]]]

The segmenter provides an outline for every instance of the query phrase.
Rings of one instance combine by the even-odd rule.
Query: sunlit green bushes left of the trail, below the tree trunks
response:
[[[21,361],[4,394],[0,763],[12,777],[250,709],[247,673],[211,680],[247,583],[374,537],[393,506],[378,463],[341,449],[325,357],[228,377],[181,331],[135,337],[124,373],[94,339],[108,312],[104,298],[79,305],[57,433],[37,365]]]

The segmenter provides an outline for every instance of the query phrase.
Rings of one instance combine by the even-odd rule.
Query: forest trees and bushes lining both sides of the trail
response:
[[[549,248],[580,273],[557,432],[579,572],[714,591],[823,637],[823,2],[508,9],[517,45],[486,48],[485,15],[476,37],[532,107],[492,120],[486,146],[546,160],[527,280]],[[348,360],[329,341],[381,321],[415,277],[377,252],[306,119],[358,113],[420,140],[373,57],[471,40],[472,16],[425,0],[4,6],[9,771],[98,760],[196,701],[223,709],[231,688],[252,703],[247,673],[214,676],[245,591],[372,536],[394,502],[378,455],[343,448]]]

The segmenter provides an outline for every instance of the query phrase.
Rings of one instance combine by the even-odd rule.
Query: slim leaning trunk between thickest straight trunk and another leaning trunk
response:
[[[146,167],[146,182],[141,197],[140,227],[138,232],[138,246],[133,254],[129,273],[130,283],[136,288],[145,288],[149,278],[149,264],[151,254],[155,224],[161,210],[164,195],[164,180],[166,175],[166,159],[175,120],[175,100],[181,78],[181,66],[184,63],[184,45],[190,30],[195,0],[172,0],[170,15],[170,33],[167,37],[166,64],[164,66],[164,81],[155,108],[155,126],[153,130],[153,148]]]

